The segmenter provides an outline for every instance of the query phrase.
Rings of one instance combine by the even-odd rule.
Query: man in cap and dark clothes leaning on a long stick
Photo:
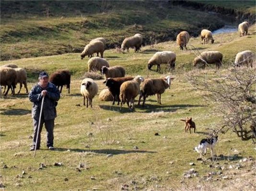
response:
[[[41,131],[43,124],[45,124],[47,130],[47,147],[50,150],[54,150],[53,147],[53,128],[54,128],[54,119],[57,117],[56,106],[57,101],[59,100],[60,93],[58,88],[49,82],[49,76],[46,72],[42,72],[39,74],[39,82],[35,85],[31,91],[29,92],[29,100],[33,102],[32,106],[32,118],[34,125],[34,138],[33,138],[33,146],[30,150],[40,149],[40,141],[41,141]],[[38,131],[38,123],[40,110],[42,105],[43,97],[45,96],[43,103],[43,111],[41,117],[41,123],[39,125],[39,135],[36,144],[36,135]]]

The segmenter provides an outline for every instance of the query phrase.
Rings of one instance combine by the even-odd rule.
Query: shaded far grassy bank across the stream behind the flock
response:
[[[174,40],[183,30],[198,36],[203,28],[215,30],[227,23],[216,14],[168,1],[0,1],[0,5],[1,61],[80,53],[99,36],[107,39],[109,48],[138,32],[145,44],[154,44]]]

